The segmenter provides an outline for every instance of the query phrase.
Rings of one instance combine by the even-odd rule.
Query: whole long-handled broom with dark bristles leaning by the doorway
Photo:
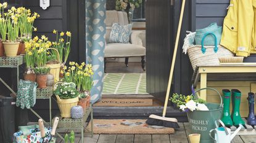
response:
[[[178,50],[178,44],[179,44],[179,40],[180,40],[181,24],[182,24],[182,20],[183,20],[185,3],[186,3],[186,0],[183,0],[182,6],[181,6],[180,21],[179,21],[179,25],[178,25],[178,32],[176,35],[175,48],[174,48],[174,52],[173,52],[173,60],[171,62],[171,70],[170,70],[170,77],[169,77],[169,81],[168,81],[167,93],[166,93],[166,97],[165,97],[165,105],[163,107],[163,116],[161,117],[158,115],[150,115],[146,121],[146,123],[149,125],[165,126],[165,127],[170,127],[170,128],[180,128],[180,126],[178,125],[178,120],[176,118],[167,118],[167,117],[165,117],[165,115],[166,115],[167,104],[168,104],[168,99],[169,99],[169,94],[170,94],[170,89],[171,89],[171,80],[173,78],[173,71],[174,71],[174,67],[175,67],[176,53]]]

